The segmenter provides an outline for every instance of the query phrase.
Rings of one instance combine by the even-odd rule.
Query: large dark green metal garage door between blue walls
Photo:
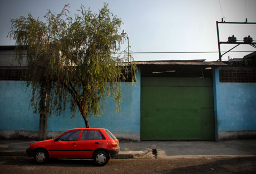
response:
[[[142,77],[141,140],[214,140],[212,79]]]

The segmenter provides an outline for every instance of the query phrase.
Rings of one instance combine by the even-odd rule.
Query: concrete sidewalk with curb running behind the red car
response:
[[[1,156],[26,156],[35,141],[0,140]],[[256,140],[120,142],[116,158],[256,156]]]

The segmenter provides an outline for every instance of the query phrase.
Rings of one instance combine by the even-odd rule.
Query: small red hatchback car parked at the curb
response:
[[[119,151],[119,141],[109,130],[75,128],[55,139],[31,143],[26,152],[37,163],[46,163],[50,158],[88,158],[104,166]]]

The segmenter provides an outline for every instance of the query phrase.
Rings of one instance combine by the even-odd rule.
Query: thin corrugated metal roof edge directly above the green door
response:
[[[227,66],[223,62],[200,62],[200,61],[135,61],[137,65],[205,65],[205,66]]]

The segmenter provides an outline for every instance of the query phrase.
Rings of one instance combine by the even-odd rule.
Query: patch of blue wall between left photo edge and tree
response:
[[[31,94],[21,81],[0,81],[0,130],[38,130],[39,117],[28,111]]]

